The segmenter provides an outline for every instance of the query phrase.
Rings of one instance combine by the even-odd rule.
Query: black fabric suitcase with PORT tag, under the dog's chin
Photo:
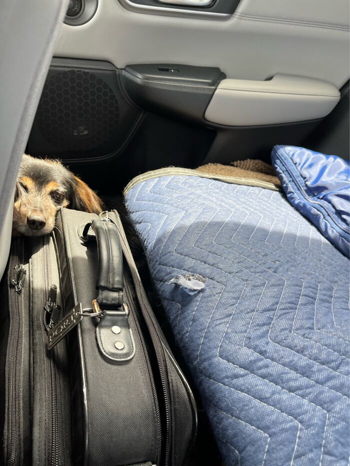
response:
[[[4,465],[185,463],[194,400],[115,211],[13,238],[1,303]]]

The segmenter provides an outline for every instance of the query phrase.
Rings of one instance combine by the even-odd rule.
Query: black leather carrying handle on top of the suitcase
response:
[[[84,227],[84,242],[91,237],[90,228],[96,237],[98,253],[97,302],[103,310],[119,308],[122,305],[123,262],[118,230],[112,222],[92,220]]]

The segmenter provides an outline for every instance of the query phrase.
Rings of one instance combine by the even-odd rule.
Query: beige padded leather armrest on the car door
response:
[[[300,76],[276,74],[268,81],[223,79],[205,118],[228,126],[312,120],[330,113],[339,98],[332,84]]]

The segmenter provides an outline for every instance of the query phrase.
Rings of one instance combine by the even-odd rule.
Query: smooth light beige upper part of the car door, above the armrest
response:
[[[222,21],[139,14],[117,0],[100,0],[88,23],[63,25],[55,55],[107,60],[117,68],[162,62],[217,66],[236,79],[291,74],[338,89],[347,81],[348,1],[336,0],[337,7],[325,0],[258,3],[263,6],[256,9],[256,2],[242,0],[237,13]],[[278,18],[272,14],[277,4]],[[239,16],[250,11],[264,11],[264,17]]]

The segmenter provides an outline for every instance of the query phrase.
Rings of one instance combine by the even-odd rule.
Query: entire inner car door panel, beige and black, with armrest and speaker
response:
[[[268,161],[276,143],[301,145],[332,110],[338,90],[348,81],[347,0],[220,0],[220,11],[213,10],[216,2],[201,8],[138,1],[99,0],[89,21],[62,25],[38,110],[43,123],[40,127],[37,115],[29,139],[31,154],[52,154],[75,164],[92,185],[109,186],[94,178],[96,162],[103,164],[106,178],[122,163],[114,179],[121,189],[137,173],[166,165]],[[51,79],[63,71],[62,63],[71,75],[65,84],[68,108],[57,98]],[[139,71],[140,66],[153,71]],[[165,68],[171,71],[162,71]],[[203,78],[208,69],[216,70],[209,84]],[[85,72],[88,81],[79,95],[77,71]],[[257,93],[271,90],[278,75],[289,76],[289,83],[304,80],[309,85],[296,86],[297,92],[292,84],[292,89],[277,86],[278,92],[273,88]],[[89,80],[96,81],[96,76],[117,101],[114,126],[102,111],[106,97],[98,95],[100,86],[92,94],[89,89]],[[243,92],[248,81],[249,91]],[[222,90],[225,82],[235,89]],[[98,111],[86,105],[91,98]],[[57,115],[69,124],[63,125]],[[341,115],[346,119],[346,111]],[[52,132],[55,124],[65,132],[52,144],[49,129]],[[111,137],[98,136],[97,127],[100,132],[108,127]],[[346,156],[348,135],[343,130],[341,134],[345,143],[339,155]],[[63,144],[67,140],[70,145]],[[311,149],[317,145],[315,138],[308,140]]]

